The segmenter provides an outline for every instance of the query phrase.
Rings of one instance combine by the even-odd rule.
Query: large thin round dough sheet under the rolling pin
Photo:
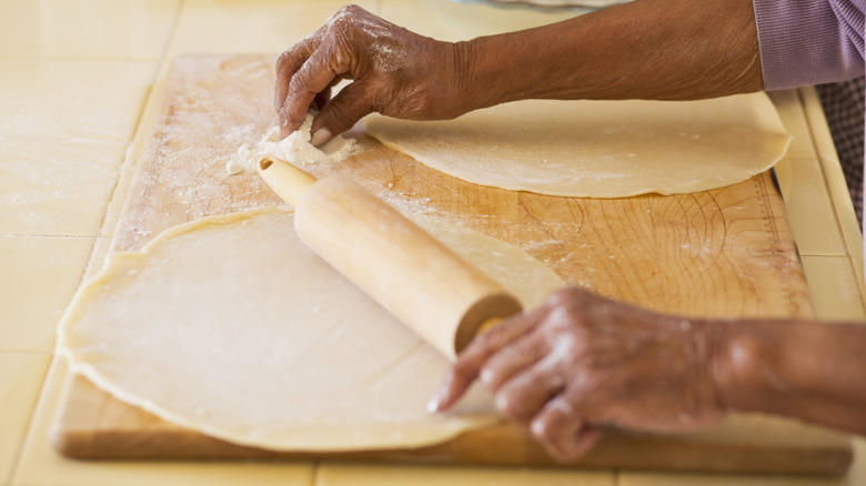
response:
[[[292,223],[273,207],[205,217],[111,254],[67,311],[61,352],[124,402],[256,447],[417,447],[500,421],[481,388],[453,413],[429,414],[449,362],[311,253]],[[522,292],[507,276],[517,264],[526,305],[563,284],[520,249],[427,227]]]

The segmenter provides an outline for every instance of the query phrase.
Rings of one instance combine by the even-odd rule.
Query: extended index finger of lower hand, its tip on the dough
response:
[[[431,412],[452,406],[479,377],[481,367],[494,353],[528,333],[541,320],[542,310],[511,317],[499,326],[475,336],[445,374],[439,392],[431,399]]]

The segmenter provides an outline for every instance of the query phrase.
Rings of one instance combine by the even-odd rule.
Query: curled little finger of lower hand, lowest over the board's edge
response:
[[[601,433],[587,426],[563,395],[547,402],[533,417],[530,429],[544,449],[560,462],[581,457],[601,438]]]

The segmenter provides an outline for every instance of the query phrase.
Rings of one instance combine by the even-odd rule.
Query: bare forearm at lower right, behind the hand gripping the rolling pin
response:
[[[725,405],[866,434],[866,325],[806,321],[712,324]]]

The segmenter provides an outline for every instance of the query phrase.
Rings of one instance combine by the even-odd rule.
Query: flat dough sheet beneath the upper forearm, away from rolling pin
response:
[[[481,185],[621,198],[731,185],[775,164],[785,132],[765,93],[702,101],[527,100],[450,121],[365,120],[366,132]]]

